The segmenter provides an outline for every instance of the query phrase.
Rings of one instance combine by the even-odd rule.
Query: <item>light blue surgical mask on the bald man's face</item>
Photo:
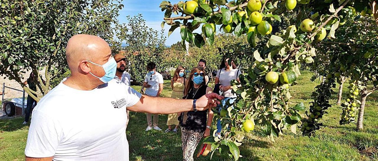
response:
[[[100,79],[102,82],[107,83],[110,80],[114,79],[114,76],[116,76],[117,62],[114,60],[113,57],[110,58],[108,60],[108,62],[106,62],[104,65],[99,65],[99,64],[96,64],[96,63],[91,62],[91,61],[88,61],[88,62],[104,68],[105,75],[102,76],[102,77],[95,76],[95,74],[92,74],[91,72],[89,72],[90,74],[92,74],[92,76]]]

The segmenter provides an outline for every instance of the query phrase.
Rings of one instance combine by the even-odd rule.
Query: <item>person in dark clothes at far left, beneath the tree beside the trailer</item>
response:
[[[26,79],[26,81],[23,84],[29,85],[30,90],[37,91],[37,86],[34,83],[34,77],[34,73],[31,72],[29,78]],[[37,97],[36,94],[33,95]],[[33,107],[34,103],[37,105],[37,101],[34,100],[30,95],[28,95],[28,99],[26,101],[25,121],[22,123],[22,125],[26,125],[29,122],[31,108]]]

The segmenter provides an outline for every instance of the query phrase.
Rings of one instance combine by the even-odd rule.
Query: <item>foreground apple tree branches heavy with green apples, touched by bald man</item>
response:
[[[238,97],[234,106],[226,109],[225,117],[221,117],[222,137],[205,138],[205,143],[212,144],[213,153],[217,150],[239,159],[238,146],[243,139],[240,131],[251,131],[255,123],[272,140],[286,129],[296,133],[297,127],[302,135],[313,135],[321,126],[325,109],[330,107],[328,99],[336,80],[333,74],[328,75],[317,87],[307,118],[302,118],[299,111],[305,109],[304,103],[288,104],[290,87],[301,74],[299,64],[314,62],[317,50],[313,42],[326,41],[327,35],[335,38],[340,24],[355,18],[356,12],[370,9],[371,3],[369,0],[191,0],[176,4],[163,1],[160,5],[165,11],[163,23],[171,25],[170,31],[180,29],[182,44],[185,41],[197,47],[212,44],[215,26],[222,25],[226,33],[246,34],[248,43],[256,48],[255,61],[244,69],[241,82],[232,82]],[[281,15],[286,12],[295,12],[297,21],[283,32],[270,35],[271,24],[282,21]],[[205,38],[193,32],[200,24],[204,26]],[[256,43],[256,38],[262,41]]]

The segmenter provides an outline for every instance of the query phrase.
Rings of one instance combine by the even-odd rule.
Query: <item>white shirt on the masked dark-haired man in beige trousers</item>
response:
[[[163,76],[155,71],[155,74],[152,75],[151,73],[146,74],[146,78],[144,79],[144,82],[147,82],[147,84],[151,85],[150,88],[146,88],[146,91],[144,94],[147,94],[149,96],[156,96],[159,91],[159,84],[164,83]],[[150,80],[151,79],[151,80]]]

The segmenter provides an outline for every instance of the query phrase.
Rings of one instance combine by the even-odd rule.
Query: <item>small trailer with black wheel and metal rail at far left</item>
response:
[[[22,98],[5,98],[5,88],[22,92]],[[13,115],[24,115],[26,109],[27,98],[25,98],[25,90],[18,90],[12,87],[6,87],[3,83],[3,93],[2,93],[2,107],[5,114],[10,116]],[[33,104],[33,107],[35,104]]]

